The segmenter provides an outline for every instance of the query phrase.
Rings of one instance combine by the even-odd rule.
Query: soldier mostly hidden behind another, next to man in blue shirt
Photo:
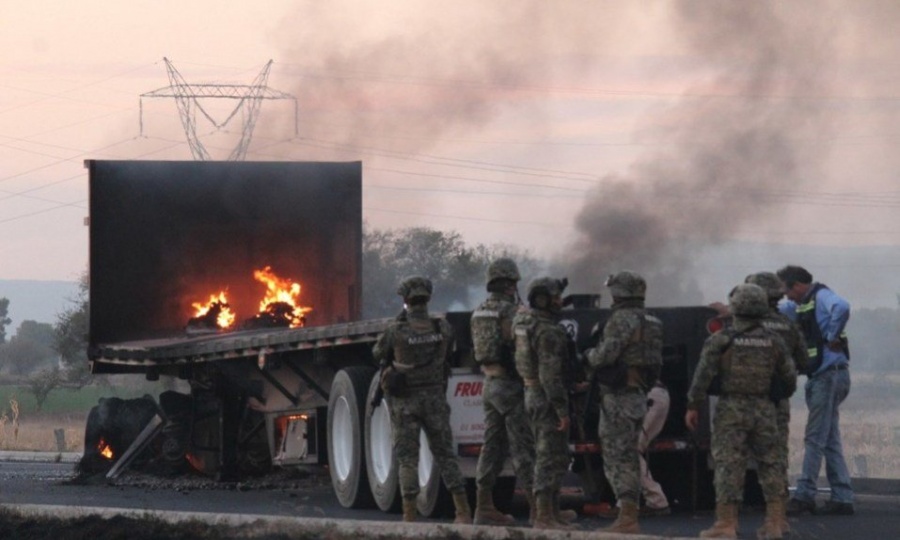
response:
[[[778,311],[778,301],[784,296],[784,284],[774,272],[757,272],[747,276],[745,283],[753,283],[762,287],[766,291],[769,299],[769,313],[763,318],[762,324],[769,330],[772,330],[784,340],[788,350],[791,352],[791,361],[794,362],[794,368],[798,373],[806,372],[807,353],[806,339],[800,328],[790,320],[787,315]],[[791,399],[790,394],[785,392],[775,392],[772,395],[775,404],[775,422],[778,426],[778,449],[779,468],[782,476],[784,476],[785,486],[789,485],[788,480],[788,428],[791,423]],[[788,491],[784,491],[785,505],[787,505]],[[784,532],[790,530],[787,516],[780,516],[781,529]]]

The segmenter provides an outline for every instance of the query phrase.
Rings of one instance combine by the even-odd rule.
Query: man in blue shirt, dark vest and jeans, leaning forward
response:
[[[787,513],[853,514],[853,488],[844,461],[839,426],[841,403],[850,392],[850,351],[844,327],[850,319],[850,304],[801,266],[778,271],[788,298],[781,312],[797,322],[807,343],[809,356],[805,394],[809,417],[804,437],[803,469]],[[816,481],[825,458],[825,474],[831,499],[816,508]]]

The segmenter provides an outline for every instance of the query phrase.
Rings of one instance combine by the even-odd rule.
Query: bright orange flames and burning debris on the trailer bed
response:
[[[297,328],[306,325],[306,314],[312,308],[300,305],[299,283],[282,279],[266,266],[254,270],[253,278],[266,285],[266,294],[259,303],[259,312],[240,324],[241,329]],[[232,311],[226,291],[211,294],[204,304],[191,304],[195,315],[187,324],[189,334],[220,332],[235,328],[236,314]]]

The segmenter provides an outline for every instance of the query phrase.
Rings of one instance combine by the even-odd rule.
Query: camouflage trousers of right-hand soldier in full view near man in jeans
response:
[[[716,502],[740,504],[750,458],[766,501],[780,498],[786,478],[780,468],[781,443],[775,404],[766,396],[721,396],[713,419]]]

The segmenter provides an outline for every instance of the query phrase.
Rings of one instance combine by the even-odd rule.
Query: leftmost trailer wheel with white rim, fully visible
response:
[[[351,366],[334,376],[328,399],[328,470],[344,508],[367,508],[372,493],[364,457],[366,394],[375,368]]]

